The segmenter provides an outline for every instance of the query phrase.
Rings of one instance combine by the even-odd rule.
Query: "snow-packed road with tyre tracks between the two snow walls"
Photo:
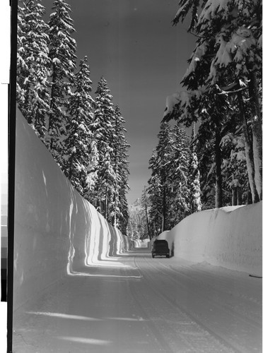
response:
[[[262,280],[129,251],[13,317],[15,353],[262,352]]]

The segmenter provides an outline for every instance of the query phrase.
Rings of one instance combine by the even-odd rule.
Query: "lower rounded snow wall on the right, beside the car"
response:
[[[189,215],[158,239],[175,257],[262,274],[262,202]]]

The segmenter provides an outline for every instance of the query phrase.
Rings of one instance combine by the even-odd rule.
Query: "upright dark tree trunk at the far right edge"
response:
[[[252,110],[253,157],[255,167],[255,185],[259,200],[262,200],[262,116],[259,106],[257,91],[257,77],[255,72],[250,72],[248,90]]]

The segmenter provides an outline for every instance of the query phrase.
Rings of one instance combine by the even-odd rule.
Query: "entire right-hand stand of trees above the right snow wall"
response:
[[[144,237],[201,209],[262,201],[261,1],[179,5],[173,25],[189,18],[197,40],[181,82],[186,90],[167,97],[149,161]]]

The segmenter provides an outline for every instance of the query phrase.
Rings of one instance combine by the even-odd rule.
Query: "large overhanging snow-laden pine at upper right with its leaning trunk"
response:
[[[188,80],[218,85],[221,92],[237,95],[243,127],[247,172],[253,202],[262,199],[262,4],[260,1],[182,0],[174,23],[192,10],[189,30],[196,30],[197,46],[189,61]],[[201,13],[199,13],[201,11]],[[202,65],[206,70],[200,71]],[[199,72],[199,73],[198,73]],[[244,97],[245,96],[245,97]],[[245,110],[244,98],[249,102]],[[249,119],[247,119],[249,116]],[[251,124],[252,136],[247,128]],[[251,141],[252,140],[252,141]]]

